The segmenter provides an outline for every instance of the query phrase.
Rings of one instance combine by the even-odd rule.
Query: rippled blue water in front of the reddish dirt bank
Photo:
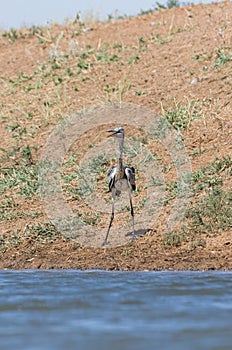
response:
[[[1,271],[0,349],[231,349],[232,273]]]

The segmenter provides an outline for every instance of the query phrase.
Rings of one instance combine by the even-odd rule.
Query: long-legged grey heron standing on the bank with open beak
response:
[[[122,153],[123,153],[123,145],[124,145],[123,127],[120,126],[112,130],[107,130],[107,132],[111,133],[109,137],[113,136],[118,140],[118,164],[112,166],[107,173],[108,182],[109,182],[109,191],[111,192],[111,195],[112,195],[112,212],[111,212],[110,223],[107,229],[105,240],[103,242],[103,246],[107,244],[110,228],[114,220],[115,196],[120,196],[122,191],[127,191],[129,194],[130,212],[131,212],[131,219],[132,219],[132,233],[133,233],[133,238],[135,238],[134,209],[133,209],[132,195],[131,195],[132,191],[136,189],[135,169],[134,167],[129,167],[127,165],[124,165],[122,161]]]

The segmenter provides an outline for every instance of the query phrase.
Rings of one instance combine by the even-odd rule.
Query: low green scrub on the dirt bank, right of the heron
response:
[[[224,181],[232,174],[232,160],[230,157],[216,158],[206,167],[192,176],[193,191],[196,198],[185,213],[185,219],[179,232],[166,233],[166,245],[180,245],[181,241],[191,242],[193,246],[205,246],[202,234],[219,235],[223,230],[232,227],[232,191],[223,188]],[[167,186],[169,195],[167,201],[178,195],[177,183]],[[182,237],[182,239],[180,239]],[[198,243],[197,243],[198,242]],[[200,244],[201,242],[201,244]]]

